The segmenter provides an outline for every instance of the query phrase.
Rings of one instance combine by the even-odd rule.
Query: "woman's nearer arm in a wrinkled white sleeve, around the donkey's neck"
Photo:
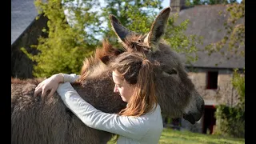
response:
[[[147,130],[149,122],[146,117],[120,116],[118,114],[107,114],[91,106],[84,101],[70,82],[60,84],[57,89],[65,105],[82,120],[86,126],[108,131],[113,134],[120,134],[127,138],[140,139]]]

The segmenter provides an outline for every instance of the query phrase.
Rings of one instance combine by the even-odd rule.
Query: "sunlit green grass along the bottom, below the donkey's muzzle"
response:
[[[212,134],[198,134],[164,128],[159,144],[244,144],[244,138],[227,138]],[[113,139],[107,144],[114,144]]]

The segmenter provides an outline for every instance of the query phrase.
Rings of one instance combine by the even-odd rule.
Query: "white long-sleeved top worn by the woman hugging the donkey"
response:
[[[69,75],[69,74],[68,74]],[[70,77],[78,78],[70,75]],[[71,80],[72,78],[70,78]],[[74,79],[72,80],[74,82]],[[70,82],[60,84],[57,89],[65,105],[81,119],[86,126],[119,134],[118,144],[145,143],[156,144],[162,134],[161,108],[139,117],[107,114],[94,108],[83,100]]]

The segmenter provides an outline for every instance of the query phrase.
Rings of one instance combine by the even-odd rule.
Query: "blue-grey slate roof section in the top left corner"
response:
[[[11,44],[34,21],[38,10],[34,6],[34,0],[11,0]]]

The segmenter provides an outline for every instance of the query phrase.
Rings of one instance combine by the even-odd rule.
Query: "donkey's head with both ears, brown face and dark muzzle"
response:
[[[204,101],[188,78],[185,67],[170,46],[161,40],[165,33],[170,7],[162,10],[147,34],[126,29],[114,15],[110,22],[125,51],[139,51],[155,65],[155,86],[162,111],[172,118],[185,118],[190,123],[202,117]]]

